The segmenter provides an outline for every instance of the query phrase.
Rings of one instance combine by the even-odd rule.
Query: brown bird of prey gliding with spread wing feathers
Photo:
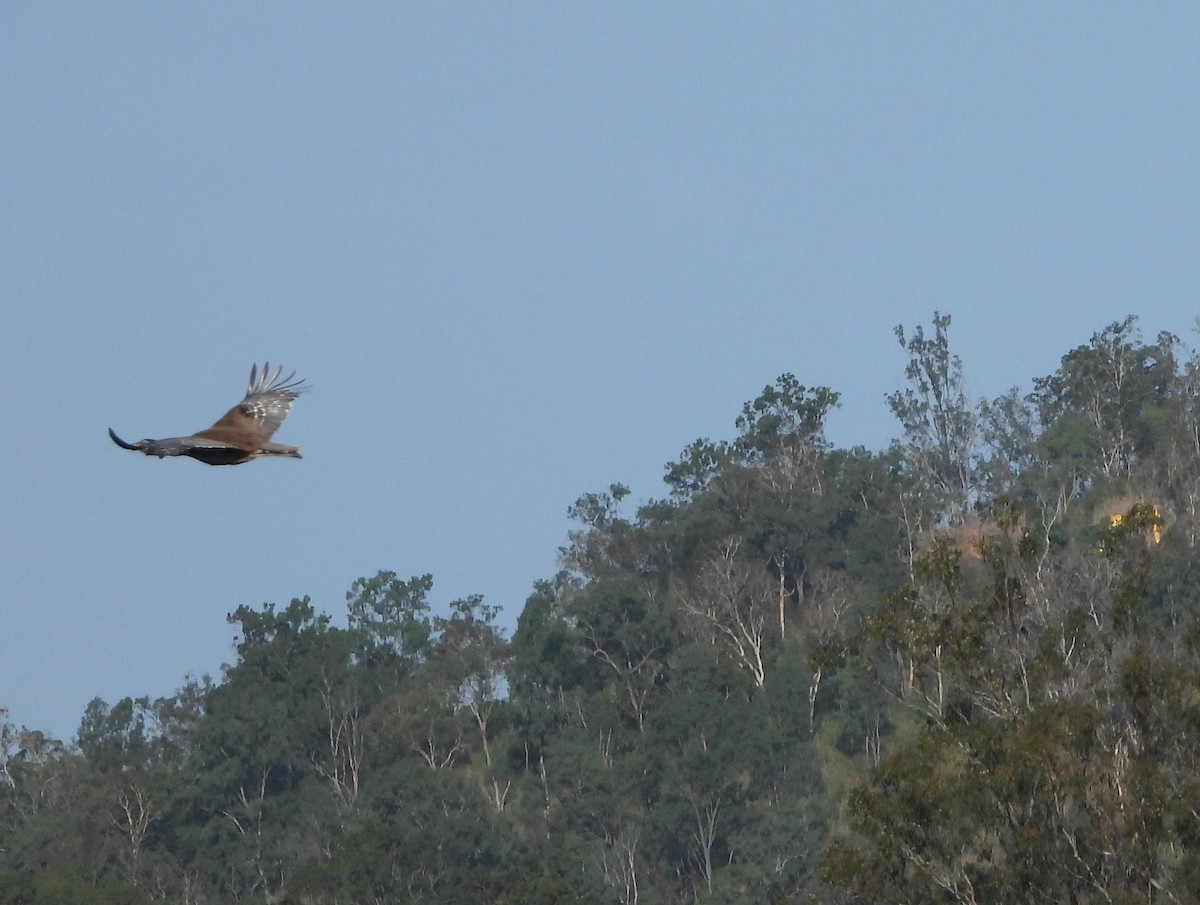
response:
[[[126,443],[113,428],[108,436],[121,449],[145,452],[148,456],[191,456],[205,465],[241,465],[259,456],[290,456],[300,459],[296,446],[271,443],[271,437],[292,410],[296,396],[307,390],[304,380],[293,380],[295,371],[280,379],[282,367],[270,371],[270,364],[250,368],[246,398],[230,408],[211,427],[197,431],[190,437],[170,437],[163,440],[138,440]]]

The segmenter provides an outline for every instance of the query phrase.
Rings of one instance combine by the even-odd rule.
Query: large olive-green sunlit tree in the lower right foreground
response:
[[[836,841],[824,875],[881,903],[1176,900],[1195,876],[1175,808],[1200,755],[1200,673],[1145,618],[1153,508],[1050,569],[1010,513],[996,522],[978,567],[935,544],[922,586],[876,619],[929,720],[859,784],[859,841]]]

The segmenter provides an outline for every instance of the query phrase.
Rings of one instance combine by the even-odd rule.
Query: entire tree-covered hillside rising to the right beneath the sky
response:
[[[1200,358],[1130,317],[972,400],[949,328],[887,450],[784,374],[582,496],[511,639],[384,571],[0,720],[0,905],[1200,901]]]

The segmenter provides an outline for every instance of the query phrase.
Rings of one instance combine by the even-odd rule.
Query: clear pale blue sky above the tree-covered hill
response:
[[[4,4],[0,706],[70,738],[379,569],[511,625],[572,501],[781,372],[884,446],[935,310],[976,396],[1129,313],[1193,346],[1200,6],[1150,8]],[[302,461],[108,440],[263,359]]]

